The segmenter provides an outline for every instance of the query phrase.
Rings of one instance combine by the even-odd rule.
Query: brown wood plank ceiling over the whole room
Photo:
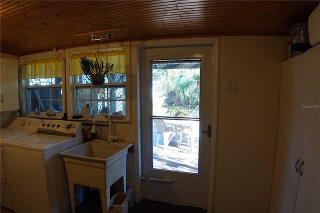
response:
[[[281,35],[307,22],[319,1],[1,0],[0,51],[25,55],[92,45],[89,33],[112,31],[99,43],[156,38]]]

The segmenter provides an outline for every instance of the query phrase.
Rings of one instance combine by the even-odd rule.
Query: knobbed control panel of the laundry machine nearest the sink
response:
[[[38,133],[60,136],[82,136],[82,123],[68,120],[42,120],[39,124]]]

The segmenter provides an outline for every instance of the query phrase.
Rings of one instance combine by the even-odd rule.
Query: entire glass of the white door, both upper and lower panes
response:
[[[199,60],[152,61],[152,168],[198,173]]]

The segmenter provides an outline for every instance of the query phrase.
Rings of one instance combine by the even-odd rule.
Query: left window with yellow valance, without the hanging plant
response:
[[[46,114],[46,109],[63,112],[61,61],[58,56],[23,61],[22,79],[27,114]]]

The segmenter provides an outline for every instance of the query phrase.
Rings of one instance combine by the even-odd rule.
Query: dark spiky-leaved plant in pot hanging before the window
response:
[[[103,60],[95,55],[95,60],[80,57],[80,64],[82,71],[88,79],[91,80],[93,85],[101,85],[104,82],[104,76],[106,73],[114,69],[113,63],[110,64],[107,57]]]

